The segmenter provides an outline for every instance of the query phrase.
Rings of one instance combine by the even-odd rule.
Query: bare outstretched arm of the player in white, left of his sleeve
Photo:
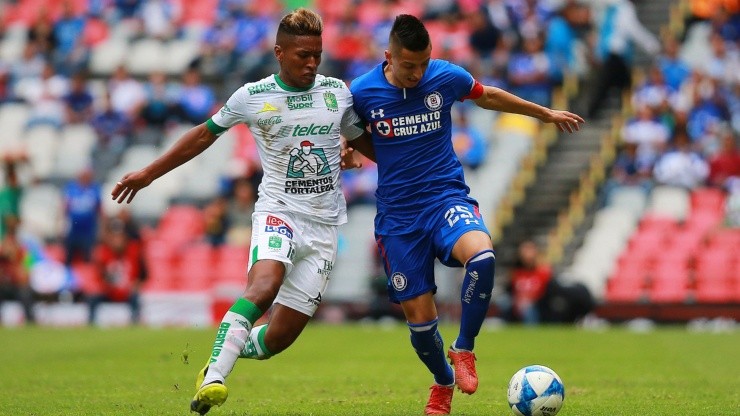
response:
[[[123,175],[111,196],[118,203],[130,203],[140,189],[149,186],[155,179],[201,154],[218,136],[206,128],[205,123],[188,130],[165,154],[136,172]]]

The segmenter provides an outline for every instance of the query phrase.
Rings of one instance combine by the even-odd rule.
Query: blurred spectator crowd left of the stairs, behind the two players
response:
[[[276,25],[286,10],[298,6],[321,13],[321,71],[346,82],[380,62],[398,13],[424,18],[435,58],[450,59],[487,84],[543,105],[550,104],[565,73],[585,71],[582,52],[587,48],[578,45],[589,29],[589,8],[574,1],[3,2],[0,119],[7,121],[10,137],[3,134],[0,140],[9,200],[2,217],[5,222],[30,218],[8,226],[25,230],[21,246],[33,247],[25,257],[17,256],[19,262],[25,258],[20,269],[38,270],[35,264],[44,261],[62,266],[59,273],[42,273],[60,276],[43,287],[31,284],[34,279],[28,276],[8,278],[16,287],[31,284],[30,291],[24,288],[9,297],[85,294],[92,322],[102,299],[127,300],[137,311],[136,293],[145,276],[154,282],[145,285],[167,288],[163,282],[173,280],[181,263],[220,257],[215,251],[199,256],[183,250],[248,246],[260,167],[246,128],[232,129],[220,140],[226,143],[223,149],[213,151],[216,156],[192,172],[183,168],[186,173],[168,175],[169,182],[163,180],[130,211],[110,204],[106,195],[120,175],[149,162],[184,129],[206,120],[244,82],[276,72]],[[469,123],[466,112],[461,106],[455,115],[455,149],[466,168],[474,170],[485,163],[488,132]],[[374,202],[377,172],[372,163],[343,175],[350,206]],[[197,214],[184,211],[200,226],[187,236],[181,226],[177,238],[182,247],[162,249],[169,253],[163,255],[157,243],[168,238],[172,246],[168,233],[177,228],[167,228],[163,218],[172,204],[196,207]],[[129,229],[143,225],[142,232],[126,233],[125,244],[116,225],[120,216]],[[131,257],[130,265],[119,268],[127,270],[126,277],[111,277],[102,264],[115,257],[106,249],[111,245]],[[122,248],[127,245],[141,247]],[[28,260],[32,254],[35,259]],[[137,256],[143,266],[134,261]],[[160,263],[173,266],[162,270]]]

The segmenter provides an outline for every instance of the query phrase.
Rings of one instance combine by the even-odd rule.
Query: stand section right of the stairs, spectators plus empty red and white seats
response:
[[[569,270],[609,302],[740,302],[740,3],[685,4],[683,30],[645,41],[660,48],[624,96],[602,209]]]

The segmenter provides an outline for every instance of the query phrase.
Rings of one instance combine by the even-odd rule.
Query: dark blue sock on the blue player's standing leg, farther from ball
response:
[[[444,386],[454,383],[455,376],[452,373],[452,367],[445,358],[444,342],[437,331],[437,320],[408,325],[411,330],[411,345],[421,362],[434,375],[434,381]]]

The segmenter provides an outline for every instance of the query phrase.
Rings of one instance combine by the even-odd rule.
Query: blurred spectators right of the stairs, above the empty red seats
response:
[[[713,187],[738,198],[740,4],[690,2],[704,3],[715,3],[711,12],[702,8],[705,14],[687,16],[685,33],[664,36],[631,89],[631,111],[604,189],[607,204],[622,186],[646,194],[656,185]]]

